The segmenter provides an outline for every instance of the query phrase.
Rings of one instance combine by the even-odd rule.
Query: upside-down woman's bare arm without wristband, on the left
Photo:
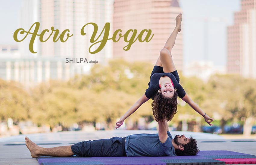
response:
[[[139,98],[138,101],[136,101],[136,103],[133,104],[133,106],[120,118],[120,120],[118,120],[116,122],[116,127],[115,128],[119,128],[121,127],[121,125],[123,125],[123,121],[129,117],[131,114],[133,114],[143,103],[145,103],[146,101],[148,101],[149,98],[146,97],[145,93],[142,95],[141,98]]]

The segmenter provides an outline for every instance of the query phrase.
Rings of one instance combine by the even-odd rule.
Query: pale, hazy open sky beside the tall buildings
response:
[[[20,28],[21,2],[0,0],[0,44],[17,44],[13,33]],[[216,66],[225,66],[226,29],[233,24],[233,13],[240,10],[241,0],[180,0],[179,3],[183,10],[184,64],[208,60]]]

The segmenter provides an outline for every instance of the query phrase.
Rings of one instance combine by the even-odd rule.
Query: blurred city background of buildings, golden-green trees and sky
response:
[[[0,137],[58,131],[113,130],[115,122],[148,88],[159,51],[183,14],[172,56],[186,93],[210,117],[208,126],[181,99],[170,130],[213,134],[256,133],[256,0],[0,0]],[[15,42],[18,28],[40,22],[74,34],[65,43],[31,35]],[[108,40],[90,54],[92,26],[101,32],[151,29],[148,43]],[[33,28],[34,29],[34,28]],[[32,29],[32,31],[33,31]],[[138,34],[137,34],[138,35]],[[137,36],[136,35],[136,36]],[[129,35],[131,36],[131,34]],[[102,39],[100,36],[99,40]],[[98,41],[99,41],[98,40]],[[97,45],[98,46],[98,45]],[[97,47],[96,46],[96,47]],[[87,58],[97,64],[65,63]],[[151,100],[119,129],[156,130]],[[253,135],[251,135],[253,134]]]

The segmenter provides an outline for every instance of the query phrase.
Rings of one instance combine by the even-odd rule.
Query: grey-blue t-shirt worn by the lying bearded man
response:
[[[158,134],[135,134],[125,138],[127,156],[176,156],[172,135],[167,131],[168,138],[161,143]]]

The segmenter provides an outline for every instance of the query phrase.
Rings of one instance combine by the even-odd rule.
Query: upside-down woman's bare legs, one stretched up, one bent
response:
[[[180,27],[181,27],[181,19],[182,15],[179,14],[176,16],[176,27],[173,30],[172,34],[170,37],[167,39],[164,48],[161,49],[160,51],[160,56],[157,59],[157,62],[155,65],[161,66],[164,69],[164,72],[173,72],[176,70],[176,67],[173,63],[172,55],[171,55],[171,50],[175,44],[175,40],[177,37],[178,32],[180,32]]]

